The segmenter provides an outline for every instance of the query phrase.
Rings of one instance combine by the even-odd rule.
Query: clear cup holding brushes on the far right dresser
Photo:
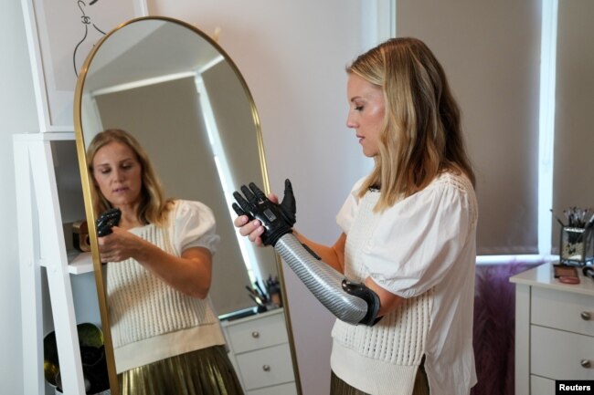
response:
[[[594,232],[592,227],[561,228],[559,260],[566,265],[586,265],[594,260]]]

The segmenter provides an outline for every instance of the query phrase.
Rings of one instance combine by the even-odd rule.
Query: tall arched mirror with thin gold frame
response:
[[[272,251],[238,237],[228,203],[246,180],[267,186],[260,125],[243,78],[195,28],[140,18],[98,44],[81,73],[77,99],[90,220],[121,210],[111,234],[95,240],[100,254],[93,255],[111,327],[110,369],[118,373],[121,393],[162,393],[143,387],[149,381],[163,393],[171,393],[172,382],[180,386],[176,393],[194,393],[182,391],[184,369],[210,371],[193,380],[207,382],[201,385],[225,383],[205,393],[242,393],[245,379],[235,379],[231,364],[240,371],[238,364],[250,362],[241,360],[246,354],[229,354],[229,363],[226,348],[233,345],[218,318],[256,313],[255,300],[264,298],[254,297],[260,292],[255,282],[266,294],[281,275]],[[264,315],[281,312],[276,330],[287,343],[282,349],[290,374],[253,385],[297,393],[295,384],[287,387],[295,377],[281,300],[262,305],[260,312],[272,309]],[[172,366],[175,378],[168,378]]]

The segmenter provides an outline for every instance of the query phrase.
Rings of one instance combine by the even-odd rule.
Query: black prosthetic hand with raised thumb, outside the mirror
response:
[[[264,245],[274,245],[285,234],[292,233],[292,225],[296,222],[295,197],[292,192],[292,185],[289,180],[285,181],[284,197],[282,203],[272,203],[264,192],[249,182],[249,188],[241,186],[245,198],[239,192],[233,192],[237,203],[232,207],[238,215],[247,215],[249,220],[257,219],[262,223],[266,231],[261,235]]]

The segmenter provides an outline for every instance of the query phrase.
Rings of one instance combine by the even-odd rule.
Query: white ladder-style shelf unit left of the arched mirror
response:
[[[75,281],[71,281],[71,275],[92,275],[93,269],[90,254],[67,252],[55,168],[58,158],[52,150],[52,144],[58,141],[72,141],[75,148],[71,132],[16,134],[13,139],[26,394],[48,393],[43,338],[48,329],[47,325],[44,327],[44,314],[49,313],[53,317],[64,394],[85,393],[73,297]],[[77,163],[73,165],[78,168]],[[80,215],[84,217],[84,210]],[[44,308],[46,276],[49,311],[48,307]],[[96,297],[96,293],[92,294],[91,297]],[[93,308],[96,307],[90,310]]]

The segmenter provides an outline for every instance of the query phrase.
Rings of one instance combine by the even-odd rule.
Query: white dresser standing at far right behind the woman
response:
[[[579,275],[566,285],[545,264],[510,278],[516,394],[554,395],[556,379],[594,379],[594,281]]]

